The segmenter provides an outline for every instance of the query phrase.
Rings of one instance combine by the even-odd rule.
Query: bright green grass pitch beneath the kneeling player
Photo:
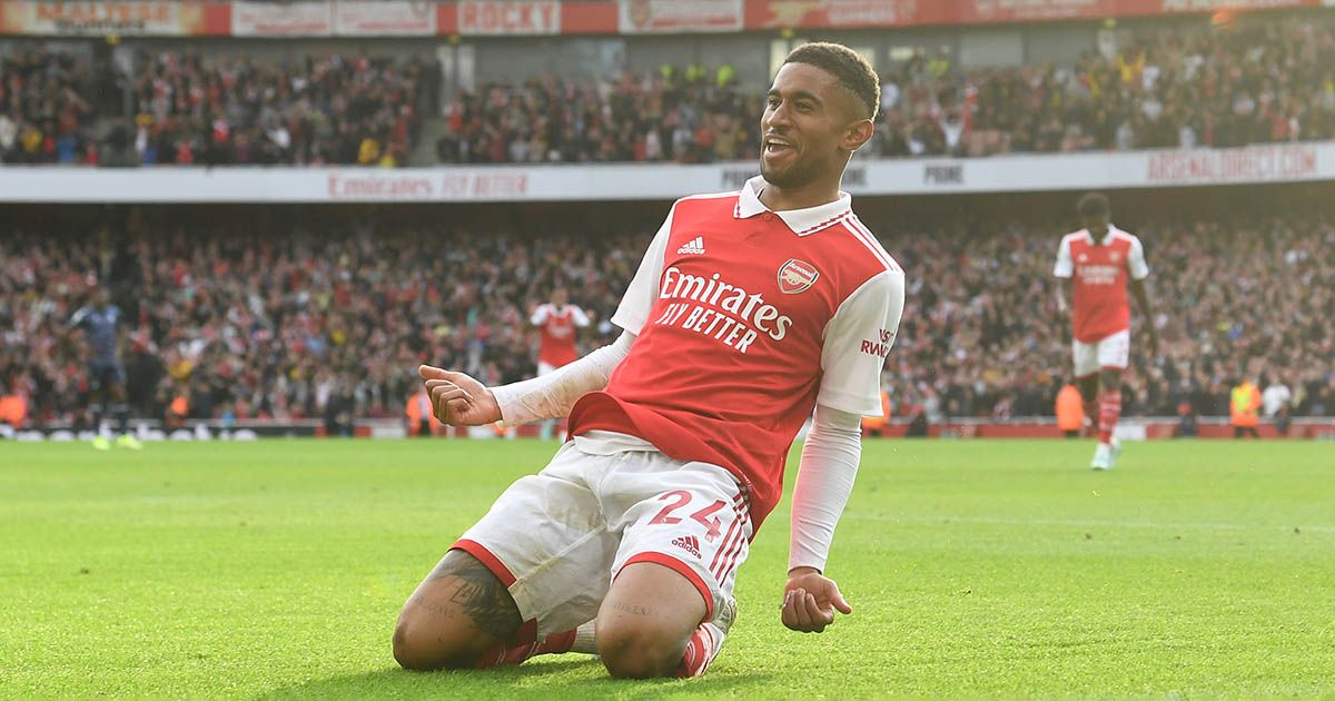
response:
[[[705,678],[399,670],[403,600],[554,447],[0,443],[0,696],[1335,694],[1335,446],[1312,442],[1129,445],[1101,474],[1084,441],[868,441],[829,567],[854,614],[822,636],[778,621],[785,502]]]

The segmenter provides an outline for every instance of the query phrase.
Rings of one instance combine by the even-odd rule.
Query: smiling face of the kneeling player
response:
[[[769,88],[760,120],[760,172],[778,187],[838,179],[848,159],[872,135],[854,97],[834,76],[788,63]]]

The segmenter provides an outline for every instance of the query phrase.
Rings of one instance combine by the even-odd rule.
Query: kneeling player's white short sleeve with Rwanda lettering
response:
[[[904,274],[888,270],[862,283],[825,327],[816,403],[881,415],[881,369],[904,314]]]

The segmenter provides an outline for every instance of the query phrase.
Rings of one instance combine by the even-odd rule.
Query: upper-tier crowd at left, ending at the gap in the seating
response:
[[[0,163],[402,166],[439,89],[418,57],[140,51],[132,64],[0,59]]]

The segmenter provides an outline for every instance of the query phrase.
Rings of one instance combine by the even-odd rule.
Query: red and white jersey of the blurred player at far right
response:
[[[1076,340],[1097,343],[1131,328],[1128,272],[1137,280],[1149,275],[1145,250],[1136,236],[1109,226],[1101,243],[1095,243],[1084,228],[1061,239],[1052,274],[1057,278],[1073,278],[1072,322]]]

